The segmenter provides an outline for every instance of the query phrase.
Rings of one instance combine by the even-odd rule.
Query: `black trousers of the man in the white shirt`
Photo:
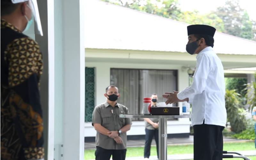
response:
[[[223,151],[223,126],[194,125],[194,160],[221,160]]]

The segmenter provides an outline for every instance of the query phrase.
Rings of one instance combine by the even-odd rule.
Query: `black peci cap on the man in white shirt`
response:
[[[216,31],[214,27],[208,26],[208,25],[202,25],[202,24],[190,25],[187,28],[188,28],[188,35],[203,34],[203,35],[209,35],[213,37]]]

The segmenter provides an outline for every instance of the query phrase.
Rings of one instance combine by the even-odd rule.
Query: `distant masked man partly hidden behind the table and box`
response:
[[[157,94],[151,95],[151,107],[159,107],[157,104]],[[144,158],[148,159],[150,156],[150,148],[153,137],[156,141],[156,152],[158,157],[158,118],[144,118],[145,122],[145,147]]]

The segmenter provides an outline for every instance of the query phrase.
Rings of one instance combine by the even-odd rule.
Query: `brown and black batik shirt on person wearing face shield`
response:
[[[44,158],[39,46],[1,19],[1,160]]]

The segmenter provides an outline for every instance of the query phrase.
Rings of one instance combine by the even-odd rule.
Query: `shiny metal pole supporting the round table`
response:
[[[159,160],[167,160],[167,118],[159,118]]]

